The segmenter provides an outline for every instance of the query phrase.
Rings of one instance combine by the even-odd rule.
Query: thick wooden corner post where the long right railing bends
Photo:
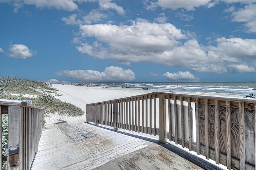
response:
[[[159,94],[159,142],[166,143],[166,99]]]

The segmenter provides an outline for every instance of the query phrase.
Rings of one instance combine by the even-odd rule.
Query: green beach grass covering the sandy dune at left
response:
[[[45,117],[50,113],[58,115],[80,116],[81,108],[54,98],[58,90],[42,82],[13,77],[0,78],[0,99],[32,100],[32,104],[45,108]],[[53,95],[54,94],[54,95]],[[26,97],[26,96],[32,97]],[[2,168],[6,168],[5,145],[8,143],[8,115],[2,115]]]

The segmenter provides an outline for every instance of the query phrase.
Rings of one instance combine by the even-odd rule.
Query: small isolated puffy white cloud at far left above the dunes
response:
[[[12,44],[8,50],[8,56],[16,59],[26,59],[36,55],[35,51],[28,49],[24,44]]]

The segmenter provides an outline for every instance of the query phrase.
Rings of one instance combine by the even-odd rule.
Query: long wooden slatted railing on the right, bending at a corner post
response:
[[[87,122],[158,135],[227,169],[255,170],[255,99],[154,92],[87,104],[86,113]]]

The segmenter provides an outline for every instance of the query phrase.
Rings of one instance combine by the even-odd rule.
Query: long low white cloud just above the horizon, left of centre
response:
[[[57,76],[75,78],[79,82],[124,82],[135,80],[135,73],[124,70],[121,67],[109,66],[104,72],[97,70],[61,70],[55,73]]]

